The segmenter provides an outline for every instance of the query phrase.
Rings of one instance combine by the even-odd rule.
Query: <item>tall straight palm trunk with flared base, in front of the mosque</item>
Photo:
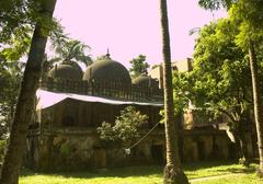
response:
[[[161,26],[162,26],[162,54],[163,54],[163,78],[164,78],[164,118],[167,140],[167,165],[163,171],[164,184],[187,184],[179,158],[178,129],[175,128],[170,35],[168,24],[167,0],[160,0]],[[176,126],[179,127],[179,126]]]

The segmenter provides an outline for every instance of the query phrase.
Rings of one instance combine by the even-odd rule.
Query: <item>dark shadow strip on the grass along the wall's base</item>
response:
[[[216,169],[215,173],[253,173],[256,166],[252,164],[250,168],[237,168],[231,166],[237,164],[230,161],[210,161],[210,162],[193,162],[186,163],[183,170],[190,172],[188,177],[196,177],[196,170],[205,170],[214,166],[228,166],[225,169]],[[33,176],[33,175],[49,175],[49,176],[62,176],[62,177],[75,177],[75,179],[94,179],[94,177],[128,177],[128,176],[157,176],[162,177],[163,165],[149,165],[149,166],[127,166],[127,168],[113,168],[113,169],[102,169],[102,170],[84,170],[84,171],[68,171],[68,172],[36,172],[27,169],[23,169],[22,176]]]

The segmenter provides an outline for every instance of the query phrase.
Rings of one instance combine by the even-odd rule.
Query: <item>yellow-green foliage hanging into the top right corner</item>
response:
[[[263,41],[263,3],[261,0],[199,0],[199,5],[208,10],[226,8],[231,22],[239,30],[236,43],[248,50],[249,42]]]

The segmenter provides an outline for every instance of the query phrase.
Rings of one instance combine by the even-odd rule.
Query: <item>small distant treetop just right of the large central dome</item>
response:
[[[139,55],[137,58],[132,59],[129,64],[132,64],[132,68],[129,69],[132,78],[147,74],[147,69],[150,67],[149,64],[146,62],[146,56],[144,55]]]

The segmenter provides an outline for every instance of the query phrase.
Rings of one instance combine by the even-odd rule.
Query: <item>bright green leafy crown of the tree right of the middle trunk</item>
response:
[[[237,32],[228,19],[202,28],[191,73],[196,106],[216,111],[251,102],[250,68],[245,54],[235,43]]]

